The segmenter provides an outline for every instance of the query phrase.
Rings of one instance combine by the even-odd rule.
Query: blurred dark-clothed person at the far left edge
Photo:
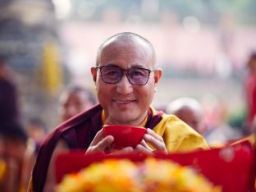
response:
[[[0,191],[21,189],[22,158],[27,136],[20,121],[18,93],[6,57],[0,56]]]

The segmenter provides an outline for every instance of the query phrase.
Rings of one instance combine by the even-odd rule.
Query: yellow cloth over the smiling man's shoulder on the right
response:
[[[162,120],[153,130],[162,136],[169,153],[208,149],[203,136],[174,115],[162,115]]]

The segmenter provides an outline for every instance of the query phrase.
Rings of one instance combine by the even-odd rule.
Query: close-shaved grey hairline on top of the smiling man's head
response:
[[[134,34],[131,32],[123,32],[120,34],[115,34],[112,37],[108,38],[106,41],[104,41],[100,47],[98,48],[97,53],[97,60],[96,60],[96,66],[99,66],[101,55],[105,48],[111,48],[112,45],[121,45],[121,44],[133,44],[135,46],[141,46],[144,47],[145,52],[149,54],[150,57],[152,57],[153,66],[156,63],[156,54],[153,48],[153,45],[149,42],[148,39],[145,39],[144,37],[140,36],[139,34]]]

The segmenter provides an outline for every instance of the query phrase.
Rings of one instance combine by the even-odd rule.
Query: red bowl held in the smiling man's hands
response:
[[[114,137],[113,147],[121,149],[124,147],[135,147],[143,139],[147,129],[142,126],[125,126],[125,125],[104,125],[103,133],[105,136]]]

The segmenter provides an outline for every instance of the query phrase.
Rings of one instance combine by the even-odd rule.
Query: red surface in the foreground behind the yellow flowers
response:
[[[66,173],[79,171],[106,158],[129,158],[134,162],[143,161],[146,155],[85,155],[74,151],[62,153],[56,159],[57,183]],[[193,153],[156,154],[155,158],[170,159],[183,166],[191,166],[200,171],[214,185],[222,185],[223,192],[253,192],[255,181],[254,149],[245,141],[221,149],[196,151]]]

